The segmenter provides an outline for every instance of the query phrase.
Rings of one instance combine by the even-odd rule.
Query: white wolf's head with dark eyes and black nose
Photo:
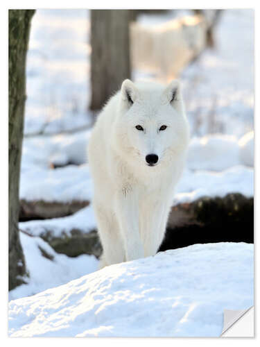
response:
[[[154,170],[186,151],[189,126],[178,81],[165,87],[125,80],[117,97],[114,138],[125,160]]]

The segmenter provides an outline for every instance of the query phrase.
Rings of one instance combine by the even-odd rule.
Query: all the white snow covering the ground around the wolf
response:
[[[169,19],[144,15],[140,21]],[[192,139],[174,205],[254,194],[253,27],[252,10],[225,10],[216,48],[180,76]],[[37,10],[27,62],[21,198],[92,201],[86,155],[91,129],[85,129],[92,123],[90,51],[87,10]],[[160,77],[133,71],[134,80],[143,76]],[[53,135],[28,137],[38,132]],[[20,298],[10,303],[12,336],[218,336],[224,309],[252,305],[252,245],[194,245],[87,275],[98,269],[94,256],[55,253],[38,236],[96,228],[91,204],[72,216],[19,228],[32,235],[20,233],[30,278],[10,291],[11,300]]]

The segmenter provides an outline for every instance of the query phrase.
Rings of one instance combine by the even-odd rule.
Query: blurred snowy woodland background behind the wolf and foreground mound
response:
[[[36,10],[26,62],[19,298],[98,268],[87,142],[125,78],[182,82],[191,144],[160,248],[253,242],[254,11]]]

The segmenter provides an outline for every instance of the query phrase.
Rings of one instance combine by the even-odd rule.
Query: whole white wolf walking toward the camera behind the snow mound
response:
[[[155,255],[182,174],[189,126],[180,84],[125,80],[89,139],[101,267]]]

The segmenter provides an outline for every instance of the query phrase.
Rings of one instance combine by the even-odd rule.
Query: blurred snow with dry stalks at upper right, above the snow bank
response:
[[[254,10],[224,10],[216,46],[180,76],[191,134],[241,137],[254,128]]]

